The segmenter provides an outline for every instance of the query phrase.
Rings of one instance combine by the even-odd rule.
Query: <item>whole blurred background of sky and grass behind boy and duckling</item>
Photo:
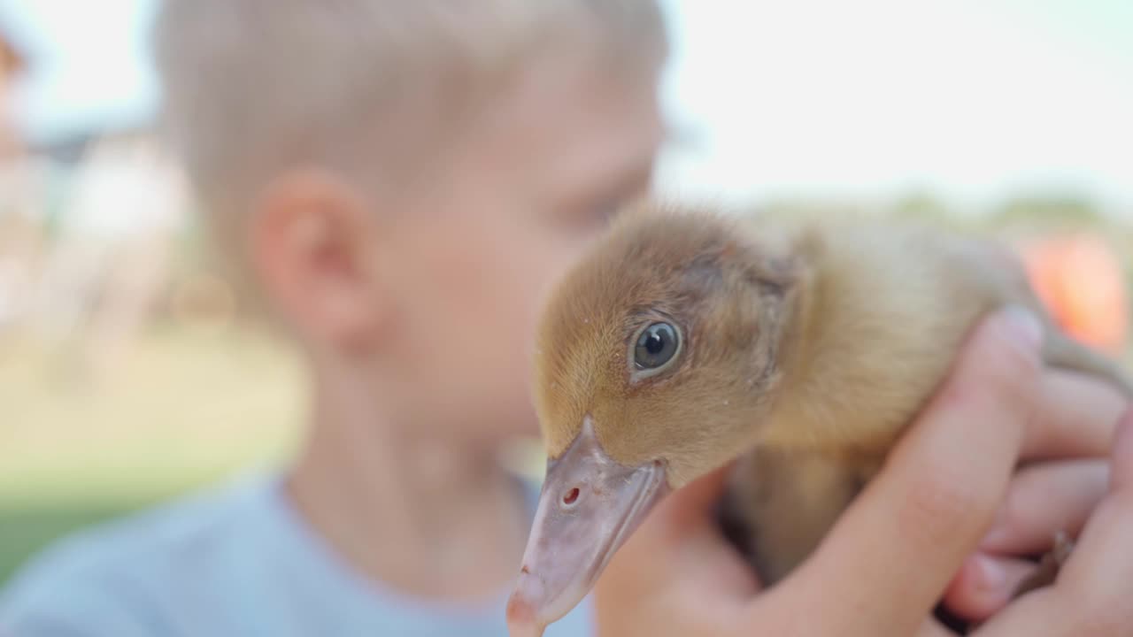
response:
[[[0,0],[0,583],[280,458],[305,415],[155,137],[155,5]],[[1130,356],[1133,3],[664,5],[659,189],[994,232],[1067,330]]]

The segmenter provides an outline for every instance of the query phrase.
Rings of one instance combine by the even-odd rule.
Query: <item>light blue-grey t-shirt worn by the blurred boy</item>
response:
[[[384,588],[338,559],[279,476],[254,476],[56,544],[0,594],[0,636],[504,637],[506,595],[453,605]],[[546,637],[593,632],[588,600]]]

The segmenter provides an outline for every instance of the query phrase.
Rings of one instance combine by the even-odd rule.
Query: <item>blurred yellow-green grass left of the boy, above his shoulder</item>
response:
[[[0,584],[79,527],[221,481],[291,448],[295,357],[245,329],[154,329],[110,372],[75,343],[0,338]]]

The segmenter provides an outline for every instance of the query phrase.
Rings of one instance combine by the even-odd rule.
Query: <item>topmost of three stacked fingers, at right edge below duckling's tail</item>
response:
[[[1023,458],[1108,457],[1126,398],[1099,376],[1050,370],[1042,374],[1034,422],[1023,439]]]

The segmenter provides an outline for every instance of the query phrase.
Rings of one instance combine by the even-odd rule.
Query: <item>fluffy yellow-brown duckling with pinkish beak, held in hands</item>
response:
[[[733,461],[724,520],[760,579],[782,579],[990,311],[1032,311],[1047,364],[1133,393],[1118,366],[1058,332],[1010,257],[988,269],[994,249],[918,226],[658,203],[624,213],[540,317],[547,470],[513,635],[540,635],[658,501]]]

